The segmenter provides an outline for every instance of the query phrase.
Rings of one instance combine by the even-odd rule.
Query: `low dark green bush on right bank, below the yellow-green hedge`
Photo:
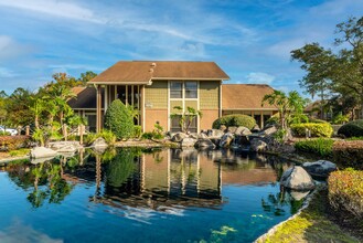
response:
[[[298,151],[313,152],[322,157],[332,155],[334,141],[327,138],[317,138],[295,142],[295,148]]]

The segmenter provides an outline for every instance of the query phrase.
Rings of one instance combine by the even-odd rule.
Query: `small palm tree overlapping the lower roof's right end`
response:
[[[307,119],[303,108],[308,104],[308,99],[302,98],[296,91],[289,92],[288,95],[281,91],[274,91],[264,96],[261,105],[264,106],[266,103],[278,109],[282,129],[287,129],[291,123],[301,123]]]

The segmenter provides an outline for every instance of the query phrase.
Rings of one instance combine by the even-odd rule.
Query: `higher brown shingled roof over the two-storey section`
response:
[[[152,80],[229,80],[214,62],[121,61],[88,84],[150,84]]]

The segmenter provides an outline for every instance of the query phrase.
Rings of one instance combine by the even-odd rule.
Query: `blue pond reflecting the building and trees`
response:
[[[235,150],[87,150],[0,168],[1,242],[253,242],[293,214],[289,161]]]

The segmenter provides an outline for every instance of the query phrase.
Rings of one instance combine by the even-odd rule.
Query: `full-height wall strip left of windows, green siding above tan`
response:
[[[168,130],[168,81],[153,81],[145,86],[145,131],[158,123]]]

